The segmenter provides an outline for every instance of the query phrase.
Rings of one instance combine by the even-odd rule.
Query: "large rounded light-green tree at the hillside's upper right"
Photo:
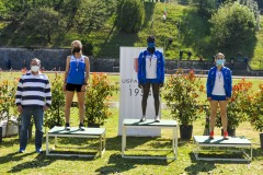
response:
[[[256,21],[253,12],[238,2],[219,8],[211,19],[211,38],[218,46],[239,47],[255,36]]]

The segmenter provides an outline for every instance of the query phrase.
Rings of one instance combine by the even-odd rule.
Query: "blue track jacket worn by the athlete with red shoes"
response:
[[[206,93],[207,97],[211,97],[211,92],[215,86],[215,81],[216,81],[216,72],[217,72],[217,67],[213,67],[207,77],[206,81]],[[221,68],[222,77],[224,77],[224,89],[226,92],[227,97],[231,97],[232,95],[232,74],[231,70],[227,67]]]

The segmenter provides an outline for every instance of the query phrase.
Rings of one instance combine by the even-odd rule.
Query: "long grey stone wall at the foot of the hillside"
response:
[[[21,70],[24,67],[24,62],[30,68],[30,61],[33,58],[38,58],[42,61],[42,67],[45,70],[61,71],[66,67],[66,58],[70,55],[70,49],[28,49],[28,48],[0,48],[0,68],[3,70]],[[119,72],[119,59],[112,58],[96,58],[89,56],[90,68],[92,72]],[[198,61],[198,60],[165,60],[165,72],[174,73],[178,69],[182,68],[185,71],[195,70],[197,73],[206,74],[207,71],[214,66],[211,61]],[[262,71],[248,70],[248,66],[244,62],[236,61],[233,65],[226,62],[233,75],[251,75],[263,74]]]

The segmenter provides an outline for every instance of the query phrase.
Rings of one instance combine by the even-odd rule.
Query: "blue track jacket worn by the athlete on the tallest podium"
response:
[[[161,51],[153,52],[157,56],[157,80],[161,84],[164,82],[164,58]],[[146,56],[150,55],[148,50],[140,52],[138,58],[138,82],[139,84],[146,83]]]

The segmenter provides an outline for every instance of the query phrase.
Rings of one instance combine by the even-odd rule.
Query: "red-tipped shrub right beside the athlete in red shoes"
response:
[[[238,126],[247,120],[245,110],[251,106],[251,89],[252,83],[244,79],[232,86],[232,96],[227,106],[227,130],[229,136],[236,136]],[[216,126],[221,127],[221,117],[219,117],[220,115],[217,116]]]

